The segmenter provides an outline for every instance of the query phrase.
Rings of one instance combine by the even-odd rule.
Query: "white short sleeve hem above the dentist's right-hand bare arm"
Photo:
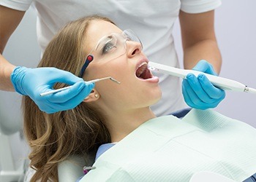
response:
[[[187,13],[208,12],[221,4],[221,0],[181,0],[181,10]]]

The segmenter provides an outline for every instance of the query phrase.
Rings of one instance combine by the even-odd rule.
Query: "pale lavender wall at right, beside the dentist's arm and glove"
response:
[[[256,1],[225,0],[216,12],[221,76],[256,88]],[[256,127],[256,95],[227,92],[217,111]]]

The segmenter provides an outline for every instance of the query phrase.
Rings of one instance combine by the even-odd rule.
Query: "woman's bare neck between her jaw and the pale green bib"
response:
[[[111,141],[118,142],[129,135],[148,119],[156,117],[149,107],[134,109],[132,111],[116,112],[107,116],[107,126]]]

